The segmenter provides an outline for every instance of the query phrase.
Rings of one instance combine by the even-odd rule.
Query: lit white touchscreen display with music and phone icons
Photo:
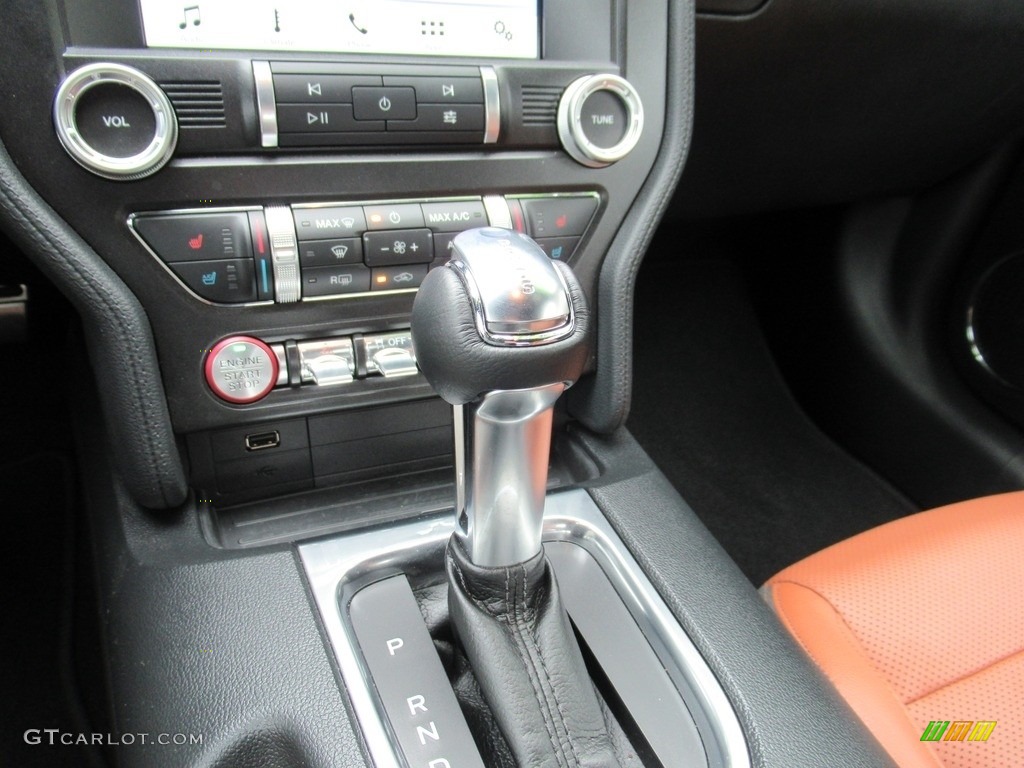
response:
[[[539,0],[139,0],[152,48],[537,58]]]

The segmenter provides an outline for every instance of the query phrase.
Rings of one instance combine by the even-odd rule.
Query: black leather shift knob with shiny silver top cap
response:
[[[548,259],[529,238],[505,229],[462,232],[453,251],[449,264],[427,274],[413,304],[417,361],[437,393],[462,406],[494,390],[574,382],[589,354],[590,314],[572,270]],[[535,293],[550,286],[552,275],[570,308],[572,325],[562,327],[563,338],[552,330],[557,321],[550,312],[541,317],[551,302],[538,302]],[[481,306],[490,298],[488,282],[505,287],[496,292],[501,317],[494,311],[485,316],[493,304]]]

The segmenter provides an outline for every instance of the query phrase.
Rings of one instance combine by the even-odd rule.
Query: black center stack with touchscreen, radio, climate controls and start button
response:
[[[31,109],[49,101],[53,128],[4,134],[46,159],[34,185],[152,328],[159,370],[134,374],[152,381],[113,359],[122,374],[100,392],[152,384],[166,401],[162,445],[119,435],[137,449],[127,481],[162,506],[175,494],[154,494],[158,475],[180,456],[216,515],[436,468],[436,440],[414,434],[436,420],[386,426],[432,395],[408,336],[419,283],[458,231],[490,224],[532,236],[596,294],[609,260],[636,258],[615,237],[649,233],[644,216],[638,232],[623,223],[668,95],[664,5],[242,5],[50,7],[60,74],[18,86]],[[316,419],[348,413],[361,444],[389,443],[376,463],[309,450]]]

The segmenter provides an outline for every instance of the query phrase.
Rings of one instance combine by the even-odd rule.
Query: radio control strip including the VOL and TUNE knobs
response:
[[[625,158],[643,129],[639,93],[614,68],[208,53],[202,77],[175,55],[69,55],[53,102],[61,145],[90,172],[132,181],[175,158],[253,151],[561,146],[600,168]]]

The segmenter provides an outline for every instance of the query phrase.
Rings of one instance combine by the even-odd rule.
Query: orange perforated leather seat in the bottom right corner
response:
[[[1024,492],[865,531],[762,591],[898,765],[1024,766]]]

